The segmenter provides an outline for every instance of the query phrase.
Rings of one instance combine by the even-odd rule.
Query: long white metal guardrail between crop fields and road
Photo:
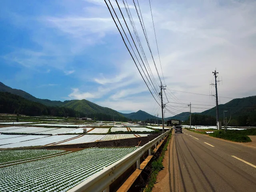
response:
[[[109,186],[112,184],[119,176],[121,176],[128,168],[130,168],[137,161],[137,168],[140,168],[140,157],[148,150],[149,155],[151,155],[151,148],[160,144],[160,141],[166,136],[170,130],[161,134],[154,140],[144,144],[142,147],[138,148],[134,152],[128,154],[124,158],[118,160],[110,166],[107,166],[100,172],[89,177],[85,181],[81,182],[77,186],[68,190],[68,192],[108,192]]]

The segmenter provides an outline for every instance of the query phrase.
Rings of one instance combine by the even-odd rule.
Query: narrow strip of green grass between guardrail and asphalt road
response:
[[[164,166],[162,164],[162,161],[163,161],[165,152],[167,150],[167,146],[169,144],[171,135],[172,135],[172,133],[170,133],[168,135],[168,137],[166,138],[167,141],[166,141],[166,144],[164,145],[164,148],[162,149],[162,152],[161,152],[160,156],[156,160],[154,160],[151,164],[151,169],[152,170],[151,170],[151,174],[149,176],[148,184],[147,184],[146,188],[143,190],[144,192],[151,192],[152,191],[152,189],[154,187],[154,184],[156,183],[156,177],[158,175],[158,172],[164,168]]]

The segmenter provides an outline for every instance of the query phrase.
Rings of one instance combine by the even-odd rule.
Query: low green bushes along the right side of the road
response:
[[[236,132],[233,132],[236,131]],[[237,132],[239,131],[239,132]],[[225,140],[235,141],[235,142],[251,142],[252,140],[242,130],[227,130],[226,133],[224,130],[218,130],[214,133],[209,134],[212,137],[221,138]]]

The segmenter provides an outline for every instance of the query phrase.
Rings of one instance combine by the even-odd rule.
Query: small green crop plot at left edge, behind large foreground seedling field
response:
[[[40,157],[45,155],[64,152],[65,150],[4,150],[0,151],[0,163],[7,163],[27,158]]]

